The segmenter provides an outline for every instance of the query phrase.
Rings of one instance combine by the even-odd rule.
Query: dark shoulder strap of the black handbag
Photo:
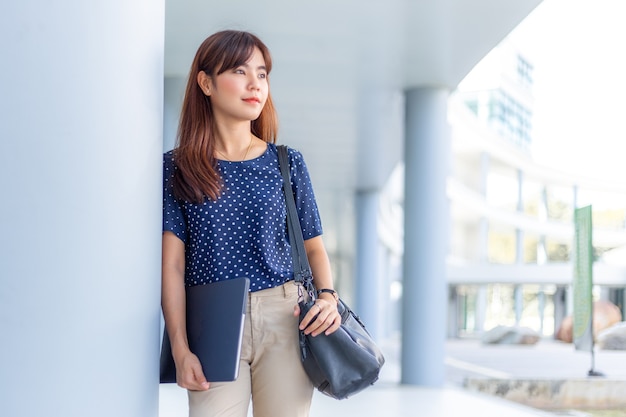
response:
[[[293,189],[291,188],[291,175],[289,174],[289,154],[285,145],[277,146],[278,165],[280,173],[283,177],[283,191],[285,193],[285,202],[287,204],[287,231],[289,233],[289,242],[291,244],[291,257],[293,258],[293,279],[302,283],[309,295],[314,297],[313,289],[313,273],[311,265],[306,256],[304,248],[304,238],[302,237],[302,227],[298,219],[298,211],[296,210],[296,201],[293,198]]]

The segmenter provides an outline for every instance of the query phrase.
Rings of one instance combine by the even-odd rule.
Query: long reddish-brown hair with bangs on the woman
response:
[[[197,82],[200,71],[209,77],[248,62],[254,48],[259,48],[269,74],[272,58],[269,49],[249,32],[226,30],[209,36],[198,48],[191,64],[189,80],[180,115],[174,162],[174,195],[184,201],[201,203],[205,197],[216,200],[222,189],[217,171],[215,150],[215,120],[211,100]],[[252,133],[266,142],[275,143],[278,122],[276,110],[268,91],[261,115],[250,126]]]

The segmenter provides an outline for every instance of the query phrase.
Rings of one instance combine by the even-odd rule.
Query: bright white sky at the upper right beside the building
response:
[[[626,183],[625,21],[625,0],[544,0],[511,33],[534,64],[538,163]]]

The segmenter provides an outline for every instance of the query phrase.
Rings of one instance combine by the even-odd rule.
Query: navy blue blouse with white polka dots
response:
[[[289,149],[291,185],[304,239],[322,234],[320,216],[302,154]],[[287,208],[276,145],[258,158],[218,160],[224,187],[217,200],[177,200],[172,191],[173,152],[163,159],[163,231],[185,243],[185,284],[248,277],[250,291],[293,279]]]

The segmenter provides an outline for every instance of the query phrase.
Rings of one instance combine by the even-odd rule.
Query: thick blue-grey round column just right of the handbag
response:
[[[402,383],[445,381],[448,90],[406,92]]]

